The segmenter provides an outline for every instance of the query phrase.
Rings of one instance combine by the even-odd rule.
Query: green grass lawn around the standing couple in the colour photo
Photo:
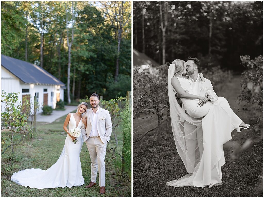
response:
[[[84,185],[72,188],[52,188],[52,189],[36,189],[17,185],[10,181],[14,172],[18,172],[27,168],[48,169],[59,158],[63,149],[66,133],[63,130],[63,123],[67,115],[57,119],[53,123],[37,123],[37,132],[34,139],[26,137],[24,143],[16,145],[15,156],[16,161],[11,162],[11,149],[7,149],[2,154],[1,160],[1,196],[2,197],[118,197],[131,196],[131,181],[117,175],[115,164],[111,158],[111,153],[107,152],[106,164],[106,194],[99,194],[99,185],[86,189],[91,179],[91,159],[86,144],[80,154]],[[122,134],[117,133],[118,152],[122,152]],[[112,139],[112,138],[111,138]],[[114,140],[110,140],[108,148],[114,147]],[[8,143],[6,144],[8,145]],[[4,149],[5,146],[2,147]],[[108,149],[109,150],[109,149]],[[121,160],[121,158],[120,158]],[[98,181],[98,175],[97,175]]]

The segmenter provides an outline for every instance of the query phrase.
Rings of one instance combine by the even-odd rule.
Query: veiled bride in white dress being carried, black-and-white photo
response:
[[[167,182],[166,185],[173,187],[221,185],[221,166],[225,164],[223,144],[231,139],[231,131],[237,129],[240,132],[239,128],[248,128],[249,125],[246,125],[232,111],[225,98],[218,97],[218,100],[212,103],[208,102],[206,97],[193,95],[194,88],[191,81],[182,77],[182,74],[186,73],[185,61],[176,59],[172,63],[168,70],[168,95],[177,152],[187,169],[191,160],[186,155],[186,139],[191,139],[190,134],[196,132],[201,126],[203,140],[200,143],[203,144],[204,151],[192,175],[187,174],[178,180]],[[188,90],[189,93],[183,90]],[[185,108],[177,103],[176,93],[180,96]],[[204,101],[205,104],[198,107],[199,101]],[[201,117],[204,118],[197,119]],[[197,128],[185,135],[183,122],[196,125]]]

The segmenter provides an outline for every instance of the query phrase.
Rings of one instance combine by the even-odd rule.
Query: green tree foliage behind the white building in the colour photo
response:
[[[66,9],[70,4],[56,1],[2,2],[1,20],[5,24],[1,27],[2,54],[25,60],[27,40],[27,61],[40,65],[40,24],[43,16],[43,68],[66,84],[68,47],[64,43],[67,40],[65,19]],[[102,13],[99,2],[78,1],[76,4],[70,93],[72,94],[74,78],[75,91],[71,99],[78,100],[92,93],[102,95],[106,100],[125,96],[126,90],[131,90],[126,89],[127,85],[131,85],[131,18],[122,34],[120,80],[116,85],[113,78],[116,71],[117,30]],[[131,5],[130,2],[125,4]],[[126,6],[128,10],[125,12],[129,12],[129,9],[131,12],[130,5]],[[126,17],[124,16],[124,20]],[[125,85],[123,89],[120,86],[122,83]],[[117,91],[113,91],[115,87]],[[64,101],[67,101],[67,94],[64,96]]]

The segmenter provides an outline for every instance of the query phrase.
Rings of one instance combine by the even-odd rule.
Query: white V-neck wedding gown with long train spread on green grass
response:
[[[69,130],[76,127],[77,123],[71,114]],[[77,128],[82,127],[82,119]],[[58,188],[65,186],[81,186],[84,184],[80,153],[83,145],[82,135],[77,138],[78,142],[73,143],[72,138],[67,134],[65,145],[58,161],[46,171],[39,168],[25,169],[14,173],[11,181],[30,188]]]

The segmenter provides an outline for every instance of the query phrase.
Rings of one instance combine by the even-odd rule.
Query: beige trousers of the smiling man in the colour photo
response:
[[[100,137],[89,137],[85,142],[91,157],[91,182],[96,182],[97,171],[99,171],[99,186],[105,186],[105,155],[106,144]]]

